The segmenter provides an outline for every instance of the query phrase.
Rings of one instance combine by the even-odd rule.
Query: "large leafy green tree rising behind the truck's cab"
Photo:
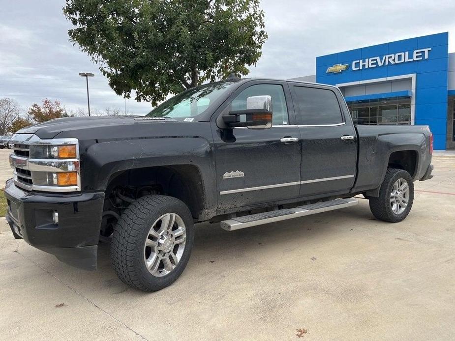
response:
[[[79,44],[118,95],[164,100],[231,73],[246,75],[267,39],[260,0],[66,0]]]

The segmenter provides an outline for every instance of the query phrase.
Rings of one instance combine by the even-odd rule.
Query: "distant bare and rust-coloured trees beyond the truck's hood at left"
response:
[[[125,114],[124,111],[117,107],[107,107],[104,111],[91,111],[91,115],[93,116],[117,116],[122,114]],[[54,118],[81,116],[88,116],[86,109],[77,108],[76,110],[67,110],[61,106],[58,100],[52,102],[45,98],[41,105],[34,103],[30,108],[24,110],[15,100],[6,97],[0,98],[0,136],[15,133],[19,129],[34,123],[46,122]]]

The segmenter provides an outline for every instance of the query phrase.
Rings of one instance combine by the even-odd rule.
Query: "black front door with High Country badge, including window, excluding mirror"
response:
[[[272,128],[233,128],[226,138],[212,122],[220,210],[299,196],[300,133],[287,84],[248,82],[230,97],[221,114],[246,110],[246,99],[261,95],[272,97]]]

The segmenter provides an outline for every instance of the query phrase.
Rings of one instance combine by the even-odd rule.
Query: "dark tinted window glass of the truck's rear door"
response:
[[[298,124],[318,125],[343,122],[334,91],[304,86],[294,86],[294,90],[300,109]],[[358,114],[358,119],[364,119],[363,113]]]

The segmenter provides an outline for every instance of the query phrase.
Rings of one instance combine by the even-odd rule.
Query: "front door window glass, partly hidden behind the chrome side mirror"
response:
[[[251,85],[234,98],[228,109],[229,111],[246,110],[246,99],[248,97],[265,95],[272,97],[273,125],[289,124],[288,109],[286,107],[283,86],[278,84]],[[246,119],[245,115],[240,115],[240,119],[244,122]]]

